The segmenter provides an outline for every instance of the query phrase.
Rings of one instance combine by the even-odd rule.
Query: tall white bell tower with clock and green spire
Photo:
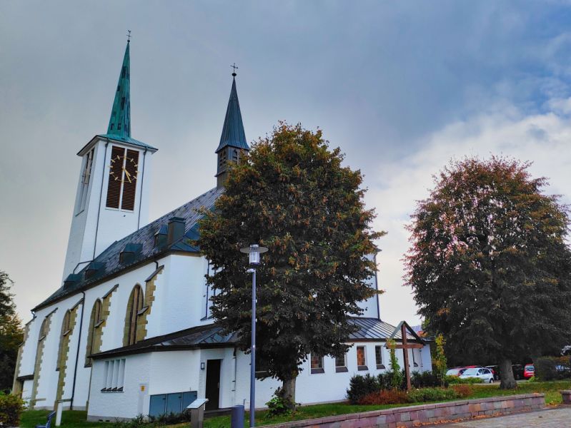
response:
[[[107,132],[77,153],[81,172],[64,280],[148,221],[150,161],[157,149],[131,138],[129,47],[127,41]]]

